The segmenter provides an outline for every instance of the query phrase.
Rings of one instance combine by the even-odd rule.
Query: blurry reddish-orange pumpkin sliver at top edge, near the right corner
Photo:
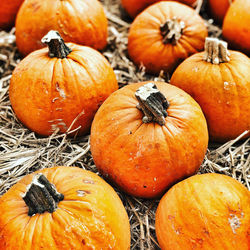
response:
[[[210,12],[216,21],[218,21],[219,23],[223,22],[223,19],[232,1],[233,0],[209,0],[208,1]]]

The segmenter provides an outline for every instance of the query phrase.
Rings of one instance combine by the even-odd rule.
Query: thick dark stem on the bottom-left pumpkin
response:
[[[36,174],[22,198],[29,207],[28,215],[32,216],[37,213],[53,213],[58,202],[64,199],[64,195],[58,193],[43,174]]]

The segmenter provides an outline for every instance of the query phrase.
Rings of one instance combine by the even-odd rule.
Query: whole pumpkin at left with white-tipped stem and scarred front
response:
[[[58,32],[42,40],[49,50],[29,54],[12,74],[12,107],[19,120],[40,135],[70,128],[85,134],[99,106],[118,89],[114,71],[98,51],[65,45]]]

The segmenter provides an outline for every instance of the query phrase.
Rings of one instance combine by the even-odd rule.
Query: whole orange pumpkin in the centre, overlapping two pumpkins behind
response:
[[[158,197],[194,174],[208,144],[199,105],[164,82],[127,85],[98,110],[90,145],[98,170],[123,191]]]

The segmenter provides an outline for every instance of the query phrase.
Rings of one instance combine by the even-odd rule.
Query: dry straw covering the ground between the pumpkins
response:
[[[121,10],[119,0],[102,1],[109,19],[109,43],[103,54],[108,58],[120,87],[129,82],[168,81],[169,76],[146,75],[137,69],[127,56],[127,31],[131,20]],[[196,11],[207,20],[209,34],[221,36],[221,29],[213,25],[206,14],[205,1],[197,1]],[[53,134],[41,138],[24,128],[16,119],[8,98],[12,70],[20,61],[15,46],[14,28],[0,31],[0,195],[21,177],[35,170],[54,165],[78,166],[98,171],[93,163],[89,136],[68,138],[67,134]],[[236,140],[224,145],[209,145],[209,150],[199,173],[217,172],[232,176],[250,190],[250,139]],[[144,200],[127,196],[116,189],[129,215],[131,224],[131,249],[159,249],[155,237],[154,216],[158,200]]]

